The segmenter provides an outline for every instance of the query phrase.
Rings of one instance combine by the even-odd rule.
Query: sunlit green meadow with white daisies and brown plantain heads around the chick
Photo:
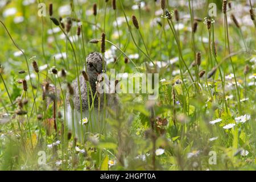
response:
[[[255,8],[251,0],[1,0],[0,170],[255,170]],[[82,117],[79,136],[66,110],[75,110],[72,81],[90,84],[91,52],[109,76],[157,74],[158,97],[115,93],[113,109],[96,92],[93,103],[104,97],[98,112],[108,114]]]

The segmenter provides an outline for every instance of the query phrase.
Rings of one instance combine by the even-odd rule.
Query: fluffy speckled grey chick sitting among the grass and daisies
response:
[[[104,64],[106,65],[106,63]],[[102,109],[104,107],[104,94],[97,94],[97,84],[98,75],[102,73],[103,65],[102,65],[102,55],[98,52],[90,53],[86,57],[86,70],[88,75],[89,85],[86,84],[84,77],[79,76],[80,81],[80,91],[81,91],[81,100],[80,102],[80,94],[79,94],[79,86],[77,82],[77,78],[73,80],[72,87],[74,90],[73,96],[67,94],[67,121],[69,130],[72,130],[75,127],[76,136],[81,137],[81,112],[80,112],[80,103],[82,104],[82,118],[88,118],[88,129],[90,131],[91,125],[93,131],[91,133],[102,131],[102,127],[104,126],[102,120],[103,112]],[[89,93],[88,89],[89,88]],[[89,102],[88,102],[89,95]],[[74,103],[74,109],[72,109],[69,100],[72,99]],[[113,94],[106,94],[107,106],[113,107],[117,104],[117,100]],[[94,109],[89,113],[89,105]],[[106,113],[105,113],[106,114]],[[72,117],[73,115],[73,117]]]

